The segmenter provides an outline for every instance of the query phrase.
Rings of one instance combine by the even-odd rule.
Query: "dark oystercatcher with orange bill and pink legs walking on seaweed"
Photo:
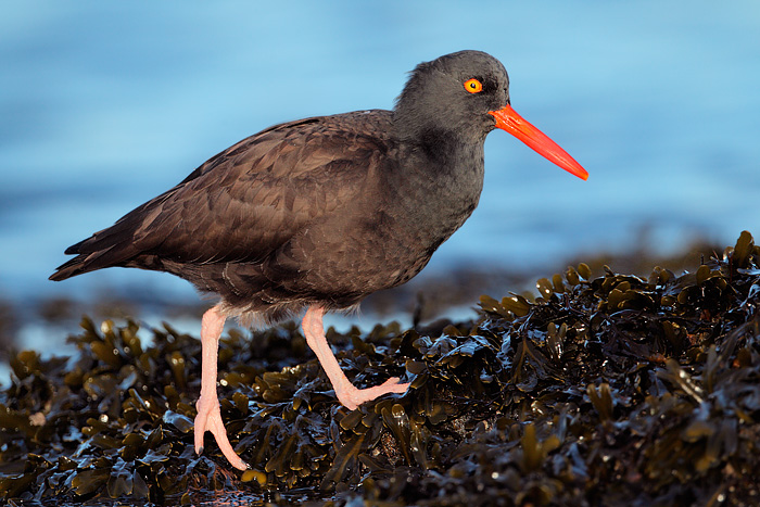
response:
[[[422,62],[393,109],[275,125],[221,151],[177,186],[69,246],[51,280],[106,267],[167,271],[218,296],[201,320],[194,448],[210,431],[231,466],[217,397],[225,321],[270,326],[300,316],[339,402],[356,409],[403,394],[398,378],[358,389],[322,325],[372,292],[416,276],[472,214],[483,188],[483,143],[502,129],[587,179],[588,173],[511,107],[504,65],[481,51]]]

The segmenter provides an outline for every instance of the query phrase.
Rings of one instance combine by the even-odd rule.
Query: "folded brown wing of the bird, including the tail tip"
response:
[[[270,127],[220,152],[173,189],[71,246],[51,279],[109,266],[256,263],[363,190],[388,150],[390,112]],[[357,122],[362,118],[364,122]]]

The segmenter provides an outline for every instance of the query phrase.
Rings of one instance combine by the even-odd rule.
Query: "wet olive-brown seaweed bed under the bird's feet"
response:
[[[0,393],[9,505],[757,505],[760,248],[694,272],[482,296],[477,321],[328,339],[358,384],[411,389],[349,411],[296,326],[220,342],[238,472],[192,447],[200,342],[83,321],[75,357],[11,360]]]

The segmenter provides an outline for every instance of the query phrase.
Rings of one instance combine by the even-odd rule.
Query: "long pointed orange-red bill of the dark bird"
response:
[[[511,106],[505,105],[504,109],[491,111],[489,114],[496,118],[496,127],[511,134],[549,162],[554,162],[581,179],[588,179],[588,172],[581,167],[581,164],[544,132],[517,114]]]

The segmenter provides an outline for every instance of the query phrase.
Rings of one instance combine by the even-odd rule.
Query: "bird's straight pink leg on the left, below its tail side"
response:
[[[198,398],[195,408],[195,453],[203,453],[203,435],[211,431],[216,439],[216,444],[227,460],[239,470],[246,470],[245,461],[240,459],[227,439],[227,430],[221,422],[219,400],[216,397],[216,360],[219,347],[219,337],[225,327],[225,316],[214,306],[201,320],[201,397]]]

